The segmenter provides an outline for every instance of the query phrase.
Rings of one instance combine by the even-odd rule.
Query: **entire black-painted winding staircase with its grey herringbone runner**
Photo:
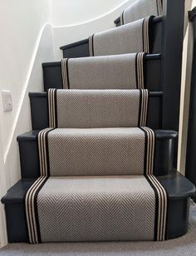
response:
[[[163,125],[162,4],[138,0],[118,27],[42,64],[45,92],[29,93],[33,130],[17,137],[22,179],[2,198],[10,243],[187,232],[195,188],[174,169],[178,132]]]

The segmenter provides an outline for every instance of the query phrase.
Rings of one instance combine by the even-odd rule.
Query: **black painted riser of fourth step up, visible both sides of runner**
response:
[[[147,55],[145,60],[145,88],[160,91],[160,55]],[[62,89],[61,62],[43,63],[44,91]]]

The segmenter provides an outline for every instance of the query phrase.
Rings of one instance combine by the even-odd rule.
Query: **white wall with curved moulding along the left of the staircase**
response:
[[[7,113],[2,111],[0,95],[0,197],[20,179],[16,139],[17,135],[31,130],[28,91],[43,90],[42,62],[52,62],[55,58],[59,60],[61,52],[58,47],[67,42],[113,27],[113,20],[126,6],[119,7],[123,2],[127,1],[1,1],[0,91],[12,92],[13,110]],[[82,30],[81,23],[85,25]],[[69,31],[67,27],[74,29]],[[56,57],[54,49],[57,49]],[[6,243],[2,204],[0,242],[1,245]]]

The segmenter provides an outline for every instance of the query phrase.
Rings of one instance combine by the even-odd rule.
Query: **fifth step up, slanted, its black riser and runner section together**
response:
[[[162,17],[146,17],[60,47],[63,57],[89,57],[134,52],[159,53]]]

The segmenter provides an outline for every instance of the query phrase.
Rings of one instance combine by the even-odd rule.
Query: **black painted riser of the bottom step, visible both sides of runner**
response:
[[[25,205],[23,203],[5,204],[5,210],[8,242],[28,242]],[[186,234],[189,224],[189,199],[169,199],[168,216],[167,239]]]

